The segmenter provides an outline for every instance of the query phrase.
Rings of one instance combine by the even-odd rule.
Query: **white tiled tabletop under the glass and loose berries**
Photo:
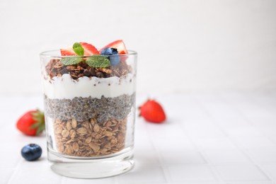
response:
[[[154,96],[168,120],[137,119],[136,165],[122,176],[78,180],[50,171],[45,137],[25,137],[19,115],[42,109],[42,96],[0,96],[0,183],[276,183],[276,93],[183,93]],[[147,96],[138,96],[137,105]],[[42,146],[39,161],[21,158],[28,143]]]

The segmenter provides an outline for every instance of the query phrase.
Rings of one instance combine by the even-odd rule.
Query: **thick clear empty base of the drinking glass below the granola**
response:
[[[105,178],[130,171],[134,166],[132,149],[114,156],[100,158],[67,158],[48,150],[48,160],[54,173],[70,178]]]

